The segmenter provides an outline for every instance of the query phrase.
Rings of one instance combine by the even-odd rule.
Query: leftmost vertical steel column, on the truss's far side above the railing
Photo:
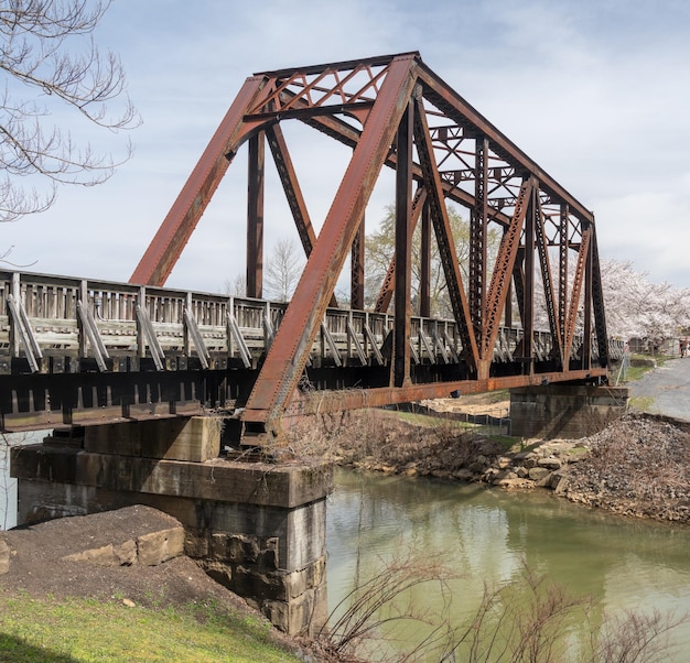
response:
[[[263,131],[249,138],[247,186],[247,296],[263,296]]]

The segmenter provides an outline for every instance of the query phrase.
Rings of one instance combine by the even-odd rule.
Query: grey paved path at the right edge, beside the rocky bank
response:
[[[671,359],[629,383],[630,398],[653,399],[640,409],[690,421],[690,357]]]

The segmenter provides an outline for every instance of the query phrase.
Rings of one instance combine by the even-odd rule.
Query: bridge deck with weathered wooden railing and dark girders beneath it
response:
[[[45,274],[0,273],[2,431],[188,415],[241,407],[287,304]],[[533,334],[525,374],[522,329],[502,328],[490,381],[468,379],[454,320],[414,316],[412,383],[389,387],[393,316],[328,308],[288,414],[595,378],[554,372],[549,333]],[[596,344],[593,344],[596,352]],[[619,348],[613,344],[612,356]],[[312,403],[312,405],[310,405]]]

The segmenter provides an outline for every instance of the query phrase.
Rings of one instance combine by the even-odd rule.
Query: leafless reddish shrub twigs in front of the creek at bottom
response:
[[[328,661],[654,663],[676,660],[671,635],[688,621],[642,609],[612,617],[595,599],[571,596],[524,566],[506,583],[485,585],[476,610],[455,623],[449,611],[453,579],[433,557],[393,555],[335,607],[314,649]],[[438,595],[435,613],[418,607],[420,590]],[[600,620],[590,619],[593,612]],[[417,643],[411,626],[420,633]]]

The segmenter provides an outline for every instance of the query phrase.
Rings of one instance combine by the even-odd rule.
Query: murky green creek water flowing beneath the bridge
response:
[[[595,626],[604,613],[630,609],[690,613],[690,528],[606,514],[542,491],[337,470],[326,541],[331,609],[347,605],[357,577],[378,577],[391,558],[412,554],[439,555],[456,577],[445,591],[422,585],[402,600],[429,620],[450,600],[453,626],[467,623],[485,586],[518,580],[526,568],[569,595],[594,599],[585,612]],[[399,637],[409,649],[428,632],[405,622]],[[690,622],[672,639],[669,660],[690,661]]]

